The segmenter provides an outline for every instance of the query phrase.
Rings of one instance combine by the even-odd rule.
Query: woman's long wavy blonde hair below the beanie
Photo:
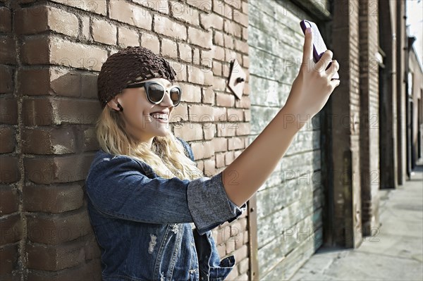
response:
[[[202,170],[197,168],[197,163],[186,156],[183,144],[172,132],[169,132],[166,137],[154,137],[152,147],[148,147],[147,143],[136,142],[126,132],[120,113],[109,106],[103,108],[95,130],[97,141],[103,151],[143,161],[160,177],[167,179],[178,177],[181,180],[204,177]]]

